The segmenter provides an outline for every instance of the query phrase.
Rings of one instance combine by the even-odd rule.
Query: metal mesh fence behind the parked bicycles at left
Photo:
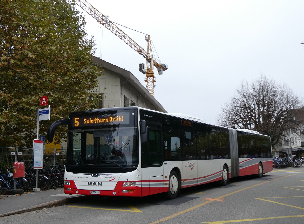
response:
[[[66,154],[66,149],[43,149],[43,168],[57,165],[58,162],[64,165]],[[0,171],[12,171],[15,161],[21,161],[25,166],[33,164],[33,148],[0,147]]]

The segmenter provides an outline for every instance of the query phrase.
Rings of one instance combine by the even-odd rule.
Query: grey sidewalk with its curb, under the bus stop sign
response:
[[[88,195],[64,194],[63,188],[27,192],[22,195],[0,195],[0,217],[69,204],[87,197]]]

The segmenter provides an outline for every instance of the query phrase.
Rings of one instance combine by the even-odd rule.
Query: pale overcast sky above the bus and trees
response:
[[[168,113],[217,124],[221,105],[242,80],[264,74],[304,95],[303,0],[88,0],[113,22],[150,34],[168,70],[156,77],[154,97]],[[145,59],[77,6],[94,36],[96,53],[130,71],[144,86]],[[145,35],[121,27],[144,49]],[[155,71],[156,70],[156,71]]]

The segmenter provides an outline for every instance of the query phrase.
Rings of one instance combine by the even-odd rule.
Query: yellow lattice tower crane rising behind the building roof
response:
[[[157,73],[159,75],[163,74],[163,71],[168,69],[167,64],[163,64],[161,62],[157,62],[153,58],[153,51],[151,46],[151,39],[150,35],[146,36],[147,40],[147,51],[144,50],[141,46],[139,46],[133,39],[131,39],[126,33],[124,33],[119,27],[117,27],[111,20],[109,20],[108,17],[104,16],[101,12],[99,12],[96,8],[94,8],[93,5],[91,5],[86,0],[74,0],[74,2],[80,6],[83,10],[85,10],[89,15],[91,15],[94,19],[97,20],[98,26],[104,26],[105,28],[109,29],[112,33],[114,33],[116,36],[118,36],[120,39],[123,40],[127,45],[129,45],[131,48],[133,48],[136,52],[138,52],[141,56],[143,56],[146,61],[146,68],[144,68],[144,64],[140,63],[138,65],[138,68],[141,73],[146,74],[145,82],[147,83],[146,87],[149,93],[154,96],[154,72],[153,72],[153,66],[157,68]]]

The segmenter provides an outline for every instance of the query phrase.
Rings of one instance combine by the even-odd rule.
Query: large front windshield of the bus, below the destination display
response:
[[[136,122],[130,123],[135,125]],[[137,127],[131,125],[118,123],[69,130],[67,171],[118,173],[135,170],[139,149]]]

